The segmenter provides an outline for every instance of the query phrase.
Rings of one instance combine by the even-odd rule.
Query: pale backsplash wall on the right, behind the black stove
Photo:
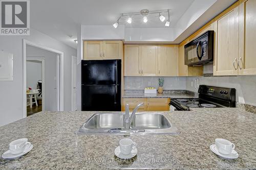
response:
[[[198,79],[199,84],[236,88],[237,102],[256,106],[256,76],[188,77],[187,90],[195,91],[191,82]]]

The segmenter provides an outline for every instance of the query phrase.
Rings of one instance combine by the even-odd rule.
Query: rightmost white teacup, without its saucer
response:
[[[215,139],[215,145],[219,153],[228,155],[234,150],[234,143],[226,139],[217,138]]]

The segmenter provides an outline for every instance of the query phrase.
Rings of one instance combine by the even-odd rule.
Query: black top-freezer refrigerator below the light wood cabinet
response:
[[[82,111],[121,111],[121,60],[82,60]]]

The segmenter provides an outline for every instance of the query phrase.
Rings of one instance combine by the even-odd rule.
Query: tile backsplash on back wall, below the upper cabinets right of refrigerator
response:
[[[124,77],[125,90],[142,90],[145,87],[158,88],[160,77]],[[185,90],[186,77],[161,77],[164,78],[165,90]]]

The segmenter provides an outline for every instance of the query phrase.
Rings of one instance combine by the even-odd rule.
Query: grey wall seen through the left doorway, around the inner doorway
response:
[[[45,110],[57,110],[57,89],[56,89],[56,72],[57,72],[57,55],[41,48],[27,45],[27,57],[44,57],[45,58]],[[28,74],[27,74],[28,75]]]

